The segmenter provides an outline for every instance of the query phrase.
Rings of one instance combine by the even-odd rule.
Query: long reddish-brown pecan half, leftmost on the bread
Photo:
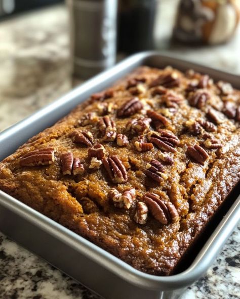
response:
[[[38,166],[38,165],[50,165],[55,161],[54,148],[46,147],[39,150],[35,150],[23,155],[20,158],[20,166]]]

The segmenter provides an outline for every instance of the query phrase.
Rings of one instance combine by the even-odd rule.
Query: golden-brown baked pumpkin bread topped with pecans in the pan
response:
[[[0,163],[0,188],[138,270],[169,275],[239,180],[240,91],[140,67]]]

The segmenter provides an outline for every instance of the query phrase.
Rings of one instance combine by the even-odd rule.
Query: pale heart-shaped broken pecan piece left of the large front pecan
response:
[[[112,188],[108,193],[109,198],[117,208],[130,209],[136,199],[136,190],[134,188],[126,189],[123,194]]]

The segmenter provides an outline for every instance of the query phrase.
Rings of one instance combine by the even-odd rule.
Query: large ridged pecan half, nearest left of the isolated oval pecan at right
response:
[[[167,130],[158,130],[158,132],[151,131],[147,134],[147,138],[158,148],[166,152],[175,153],[175,146],[179,144],[178,137]]]

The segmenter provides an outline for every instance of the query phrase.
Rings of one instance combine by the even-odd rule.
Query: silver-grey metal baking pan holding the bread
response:
[[[240,88],[240,80],[212,68],[181,59],[146,52],[134,55],[73,89],[58,101],[0,133],[0,161],[28,138],[53,125],[92,93],[100,91],[138,66],[163,68],[172,65],[182,71],[193,68],[215,80],[229,81]],[[205,239],[198,240],[193,260],[176,274],[162,277],[140,272],[69,229],[34,211],[0,191],[0,230],[33,253],[107,299],[177,298],[183,289],[209,268],[237,224],[240,215],[239,190],[235,188],[213,218]],[[227,206],[226,206],[227,204]],[[207,236],[207,239],[206,239]],[[197,245],[198,244],[198,245]],[[201,246],[199,245],[201,244]],[[188,255],[189,257],[189,255]],[[187,266],[186,266],[187,265]]]

